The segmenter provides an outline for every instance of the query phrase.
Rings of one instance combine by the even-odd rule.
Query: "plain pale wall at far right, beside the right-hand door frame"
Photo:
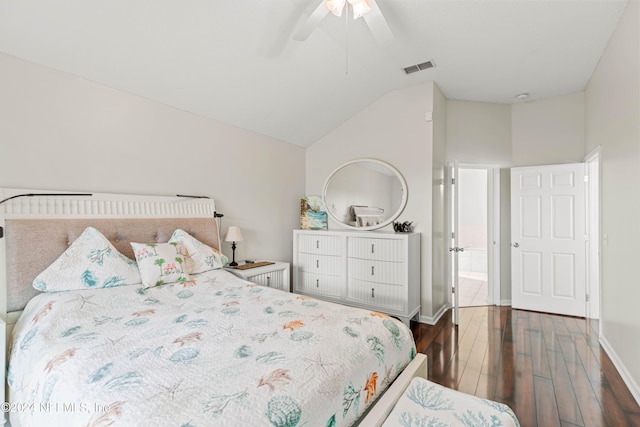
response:
[[[601,147],[601,339],[640,401],[640,3],[627,4],[586,93],[586,151]]]

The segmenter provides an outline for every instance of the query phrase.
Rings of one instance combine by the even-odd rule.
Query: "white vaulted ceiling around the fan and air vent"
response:
[[[583,90],[627,0],[377,0],[394,34],[320,0],[0,0],[0,52],[308,146],[386,92],[513,103]],[[433,60],[435,68],[402,68]]]

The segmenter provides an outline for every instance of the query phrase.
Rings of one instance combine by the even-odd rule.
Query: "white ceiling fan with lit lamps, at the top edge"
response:
[[[394,36],[391,28],[382,15],[376,0],[321,0],[311,16],[295,32],[293,39],[305,41],[329,12],[335,16],[342,16],[342,11],[345,7],[348,9],[349,6],[353,11],[353,19],[364,19],[378,44],[385,46],[393,42]]]

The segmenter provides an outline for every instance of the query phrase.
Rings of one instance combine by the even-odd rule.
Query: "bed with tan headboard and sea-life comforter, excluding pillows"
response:
[[[177,229],[217,249],[212,200],[51,195],[0,208],[14,426],[348,426],[412,359],[411,371],[424,366],[396,319],[220,268],[149,287],[84,274],[89,288],[60,290],[39,279],[88,229],[130,261],[142,253],[131,242],[153,250]],[[179,270],[182,255],[157,268]]]

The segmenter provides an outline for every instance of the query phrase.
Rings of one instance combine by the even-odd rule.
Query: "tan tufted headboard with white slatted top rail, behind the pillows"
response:
[[[2,199],[32,190],[0,192]],[[39,293],[32,287],[33,279],[88,226],[134,259],[129,242],[166,242],[177,228],[220,249],[214,212],[211,199],[114,194],[24,197],[0,205],[2,315],[7,320],[7,313],[22,310]]]

